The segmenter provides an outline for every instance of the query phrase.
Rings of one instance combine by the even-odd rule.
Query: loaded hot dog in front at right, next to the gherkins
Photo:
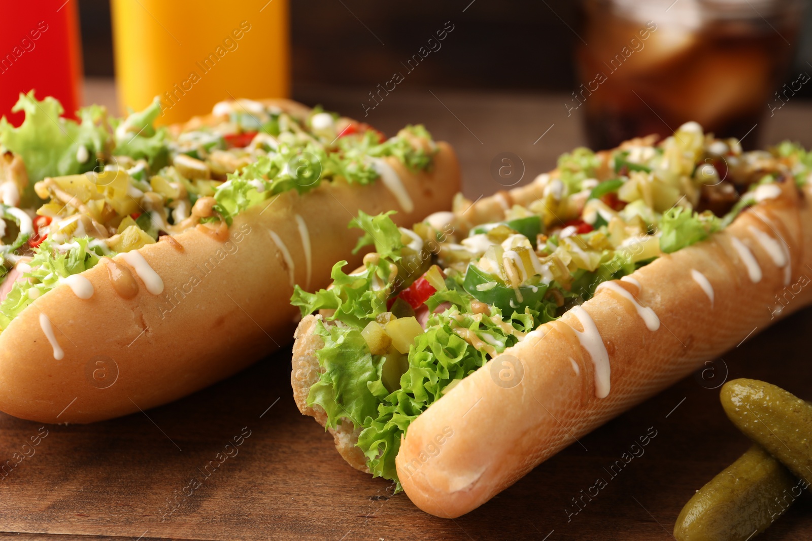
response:
[[[354,279],[292,298],[296,403],[352,466],[428,513],[468,513],[810,303],[810,165],[689,122],[577,149],[410,233],[372,218],[390,234]]]

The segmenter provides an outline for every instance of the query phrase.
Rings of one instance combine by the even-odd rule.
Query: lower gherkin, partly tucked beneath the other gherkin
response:
[[[794,500],[797,479],[760,445],[700,488],[676,519],[677,541],[745,541],[761,533]]]

